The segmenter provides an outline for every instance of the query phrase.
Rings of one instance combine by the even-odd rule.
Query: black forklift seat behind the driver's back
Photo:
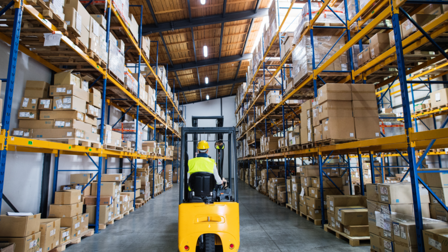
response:
[[[215,202],[216,192],[213,189],[216,181],[213,173],[194,172],[190,175],[188,186],[188,202]]]

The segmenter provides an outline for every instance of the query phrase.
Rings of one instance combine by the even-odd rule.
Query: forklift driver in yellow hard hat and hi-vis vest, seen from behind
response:
[[[208,157],[208,143],[207,141],[200,141],[198,144],[198,155],[195,158],[188,160],[188,178],[195,172],[209,172],[213,173],[216,181],[216,185],[222,185],[227,181],[219,177],[218,168],[216,167],[215,160]],[[190,188],[188,188],[189,191]]]

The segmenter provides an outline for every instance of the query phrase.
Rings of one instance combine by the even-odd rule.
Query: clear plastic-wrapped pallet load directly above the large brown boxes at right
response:
[[[344,41],[341,39],[338,41],[337,36],[313,36],[314,40],[314,63],[315,67],[321,66],[331,56],[333,56],[344,45]],[[335,45],[336,44],[336,45]],[[331,51],[330,51],[331,49]],[[328,55],[326,55],[328,52]],[[326,56],[325,56],[326,55]],[[293,77],[294,82],[298,83],[300,79],[312,74],[313,70],[313,52],[311,47],[311,39],[309,36],[304,36],[303,39],[296,46],[292,52],[293,59]],[[322,62],[321,62],[322,61]],[[327,71],[347,71],[347,52],[344,52],[338,59],[333,61],[327,68]]]

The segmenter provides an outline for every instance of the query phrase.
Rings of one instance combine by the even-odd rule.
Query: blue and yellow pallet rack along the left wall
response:
[[[85,5],[87,8],[93,0],[88,1],[88,3]],[[95,3],[94,3],[95,4]],[[138,83],[140,84],[140,69],[142,65],[146,65],[149,68],[149,71],[154,76],[155,79],[155,89],[157,92],[157,87],[161,88],[161,90],[164,93],[164,104],[165,104],[165,110],[167,113],[165,114],[165,118],[161,118],[156,114],[156,111],[152,111],[149,109],[148,106],[146,106],[140,99],[140,89],[137,93],[137,96],[134,96],[131,94],[128,90],[126,90],[125,87],[123,87],[111,74],[108,73],[108,71],[105,68],[102,68],[103,64],[101,65],[101,62],[95,58],[95,56],[91,53],[86,53],[86,50],[82,49],[82,45],[78,45],[74,42],[72,42],[71,39],[73,39],[73,35],[70,34],[70,32],[67,31],[66,25],[64,26],[65,22],[61,21],[61,19],[54,13],[51,12],[47,8],[47,12],[45,11],[39,11],[42,8],[42,3],[39,2],[39,0],[32,0],[28,2],[27,0],[12,0],[10,2],[4,2],[1,1],[1,5],[4,6],[0,10],[0,16],[2,16],[4,13],[6,13],[11,7],[14,7],[13,15],[5,15],[2,16],[2,18],[5,18],[5,21],[1,21],[2,23],[7,23],[7,27],[1,27],[0,28],[0,39],[5,41],[6,43],[11,45],[10,54],[9,54],[9,65],[8,65],[8,71],[7,71],[7,78],[1,79],[2,82],[6,82],[6,91],[5,91],[5,99],[4,99],[4,105],[3,105],[3,117],[2,117],[2,124],[1,124],[1,131],[0,131],[0,149],[1,149],[1,156],[0,156],[0,207],[2,203],[2,192],[3,192],[3,185],[4,185],[4,173],[5,173],[5,162],[6,162],[6,155],[7,151],[25,151],[25,152],[39,152],[39,153],[50,153],[55,155],[55,162],[54,162],[54,174],[53,174],[53,196],[54,192],[57,190],[57,175],[58,172],[66,172],[66,171],[90,171],[90,172],[96,172],[95,177],[97,177],[97,182],[100,183],[101,181],[101,173],[102,173],[102,162],[104,158],[104,172],[107,173],[107,169],[116,169],[116,168],[108,168],[107,167],[107,158],[108,157],[117,157],[117,158],[127,158],[130,163],[131,167],[128,169],[131,169],[134,171],[134,181],[136,181],[136,168],[137,168],[137,159],[143,159],[143,160],[154,160],[154,159],[161,159],[163,160],[163,167],[165,168],[165,163],[167,160],[172,160],[172,157],[166,156],[166,142],[167,137],[171,135],[172,141],[174,143],[174,140],[177,139],[177,142],[179,141],[180,135],[178,132],[175,132],[174,129],[170,126],[168,126],[167,122],[167,116],[168,114],[172,113],[172,122],[175,120],[179,122],[180,124],[185,122],[185,119],[183,118],[184,114],[182,113],[182,110],[179,110],[179,108],[176,106],[173,99],[168,95],[167,92],[167,85],[164,86],[162,82],[160,81],[159,77],[157,76],[157,69],[158,69],[158,42],[157,42],[157,50],[156,50],[156,61],[155,66],[156,70],[155,72],[150,67],[149,59],[146,58],[145,54],[141,50],[141,41],[142,41],[142,19],[143,19],[143,6],[142,5],[130,5],[130,7],[134,8],[140,8],[140,29],[139,29],[139,43],[136,42],[136,40],[131,35],[130,31],[128,30],[127,26],[124,24],[122,18],[118,14],[117,10],[112,4],[111,0],[102,1],[102,6],[104,6],[104,11],[102,14],[105,15],[105,18],[107,20],[106,25],[106,40],[107,40],[107,50],[109,48],[109,31],[110,26],[112,22],[115,22],[114,24],[120,26],[121,36],[124,37],[124,39],[130,43],[129,48],[133,47],[134,50],[132,50],[132,53],[134,55],[127,54],[126,57],[131,60],[134,60],[136,58],[135,55],[137,55],[138,61],[135,62],[135,69],[136,72],[139,73],[139,77],[137,78]],[[37,6],[39,5],[39,6]],[[44,4],[45,5],[45,4]],[[92,6],[91,6],[92,7]],[[91,8],[90,7],[90,8]],[[39,10],[38,10],[39,9]],[[99,8],[96,8],[96,11],[92,12],[98,12],[100,11]],[[26,11],[28,14],[24,17],[24,11]],[[45,14],[45,16],[44,16]],[[53,18],[51,18],[51,14],[53,15]],[[12,22],[11,22],[12,20]],[[23,26],[22,20],[26,21],[27,28],[26,28],[26,35],[24,38],[21,38],[21,29]],[[12,24],[12,27],[11,27]],[[55,26],[57,25],[57,27]],[[51,56],[54,55],[54,51],[48,51],[43,50],[43,41],[38,41],[36,39],[30,39],[27,36],[36,36],[36,37],[42,37],[42,33],[44,32],[50,32],[50,33],[58,33],[62,34],[60,45],[61,50],[60,53],[64,53],[70,56],[69,62],[64,61],[61,62],[61,57],[57,56]],[[8,37],[8,35],[11,35],[11,37]],[[26,46],[28,44],[25,43],[25,41],[32,42],[30,43],[32,46],[29,48]],[[22,43],[22,44],[20,44]],[[39,48],[39,50],[30,50],[30,48]],[[53,47],[54,49],[54,47]],[[12,96],[13,96],[13,90],[14,90],[14,80],[15,80],[15,74],[16,74],[16,63],[17,63],[17,53],[18,50],[22,51],[23,53],[27,54],[28,56],[36,59],[38,62],[44,64],[45,66],[49,67],[54,72],[61,72],[62,69],[57,67],[57,65],[69,65],[69,66],[86,66],[81,67],[77,69],[80,71],[83,75],[84,74],[91,74],[93,76],[98,75],[98,78],[90,84],[90,87],[93,87],[96,85],[96,83],[100,80],[102,80],[101,85],[97,85],[95,87],[98,87],[101,90],[102,93],[102,105],[101,105],[101,115],[100,115],[100,143],[103,143],[103,128],[105,124],[104,116],[105,116],[105,109],[106,109],[106,103],[107,103],[107,114],[110,113],[110,107],[116,107],[120,111],[122,111],[123,116],[124,114],[130,115],[133,119],[135,119],[137,122],[143,123],[145,127],[148,127],[149,129],[153,130],[154,140],[156,139],[157,134],[161,134],[157,129],[157,124],[162,125],[164,128],[163,134],[161,134],[164,137],[165,141],[165,153],[163,156],[161,155],[147,155],[147,154],[141,154],[137,151],[137,145],[133,152],[127,152],[127,151],[117,151],[117,150],[107,150],[104,149],[103,146],[101,148],[92,148],[92,147],[84,147],[84,146],[77,146],[77,145],[69,145],[64,143],[55,143],[55,142],[47,142],[42,140],[35,140],[35,139],[27,139],[27,138],[20,138],[20,137],[13,137],[9,135],[9,121],[11,117],[11,106],[12,106]],[[52,53],[52,54],[51,54]],[[50,54],[50,55],[49,55]],[[125,52],[126,54],[126,52]],[[128,60],[129,61],[129,60]],[[144,62],[144,63],[142,63]],[[150,75],[148,74],[148,76]],[[148,78],[146,76],[145,78]],[[113,84],[112,88],[109,86],[107,87],[107,84]],[[108,88],[108,89],[107,89]],[[107,91],[110,91],[109,94],[107,94]],[[160,92],[160,91],[159,91]],[[120,97],[121,99],[114,99],[114,97]],[[133,101],[134,104],[128,103],[128,101]],[[157,104],[157,96],[154,101],[154,107]],[[125,106],[130,106],[127,110],[124,108]],[[135,106],[135,109],[131,109]],[[169,108],[169,109],[168,109]],[[172,108],[172,110],[171,110]],[[174,113],[177,112],[177,118],[174,118]],[[151,120],[154,120],[153,126],[150,125]],[[120,121],[121,118],[118,120]],[[117,122],[118,122],[117,121]],[[107,119],[107,124],[109,124],[109,116]],[[174,125],[174,124],[173,124]],[[148,140],[149,138],[149,129],[148,129]],[[143,129],[142,129],[143,130]],[[138,139],[139,134],[139,127],[137,123],[137,127],[135,130],[136,139]],[[134,133],[131,133],[134,134]],[[61,170],[58,169],[58,163],[59,163],[59,157],[62,154],[68,154],[68,155],[85,155],[88,156],[92,162],[97,167],[96,170]],[[98,164],[93,160],[93,156],[98,157]],[[134,163],[133,163],[134,162]],[[153,165],[154,166],[154,165]],[[119,167],[119,169],[126,169],[123,167]],[[154,169],[153,169],[154,173]],[[94,177],[94,178],[95,178]],[[129,176],[128,176],[129,177]],[[153,176],[154,177],[154,176]],[[88,185],[93,181],[93,179],[88,183]],[[134,182],[135,183],[135,182]],[[154,181],[153,181],[154,183]],[[82,189],[84,190],[86,186]],[[135,185],[134,185],[134,193],[136,192]],[[97,187],[97,195],[100,195],[100,187]],[[54,199],[54,197],[53,197]],[[99,231],[99,210],[100,210],[100,198],[97,198],[97,214],[96,214],[96,220],[95,220],[95,233],[98,233]],[[135,201],[134,201],[134,207],[135,207]]]

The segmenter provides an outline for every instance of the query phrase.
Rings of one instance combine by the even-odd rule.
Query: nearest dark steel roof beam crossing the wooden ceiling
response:
[[[149,0],[147,0],[147,2],[148,1]],[[212,25],[212,24],[219,24],[219,23],[225,23],[225,22],[247,20],[247,19],[264,17],[267,15],[268,15],[268,8],[263,8],[263,9],[258,9],[258,11],[256,13],[255,13],[255,10],[246,10],[246,11],[229,13],[229,14],[226,14],[225,17],[222,17],[222,15],[211,15],[211,16],[193,18],[191,22],[189,19],[184,19],[184,20],[178,20],[178,21],[173,21],[173,22],[159,23],[158,26],[150,24],[150,25],[143,26],[142,34],[149,35],[151,33],[156,33],[156,32],[187,29],[187,28],[192,28],[192,27],[197,27],[197,26],[203,26],[204,24]],[[154,18],[155,18],[155,15],[154,15]]]

